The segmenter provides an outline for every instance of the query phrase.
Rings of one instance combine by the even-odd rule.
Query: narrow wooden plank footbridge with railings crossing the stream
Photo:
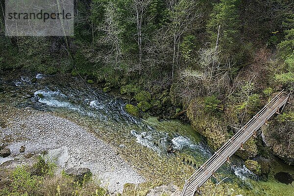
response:
[[[280,114],[288,102],[290,94],[284,95],[284,90],[277,94],[260,110],[248,123],[245,124],[231,139],[214,153],[188,180],[181,196],[201,194],[199,188],[224,164],[230,163],[230,157],[251,137],[256,137],[256,131],[274,114]]]

